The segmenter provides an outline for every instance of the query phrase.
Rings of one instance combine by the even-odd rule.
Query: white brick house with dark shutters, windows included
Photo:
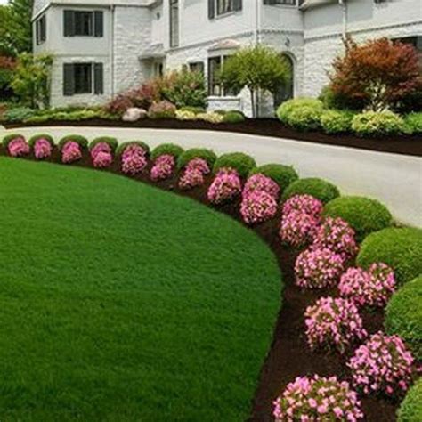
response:
[[[183,65],[207,76],[210,109],[250,111],[215,72],[242,45],[291,61],[275,102],[320,93],[342,36],[401,38],[422,50],[422,0],[35,0],[35,53],[53,53],[53,106],[97,104]],[[271,113],[263,110],[264,113]]]

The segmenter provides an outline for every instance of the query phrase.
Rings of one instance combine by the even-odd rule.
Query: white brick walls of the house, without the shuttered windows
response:
[[[165,69],[180,69],[201,61],[207,76],[210,57],[235,51],[215,48],[224,42],[261,43],[287,54],[294,64],[293,94],[317,96],[328,82],[332,60],[343,51],[343,34],[358,41],[422,36],[421,0],[341,3],[307,0],[299,8],[243,0],[240,11],[209,19],[208,0],[179,0],[179,45],[170,48],[169,0],[36,0],[34,20],[45,14],[47,40],[35,45],[35,51],[54,54],[53,106],[107,101],[154,76],[161,64]],[[103,37],[63,37],[62,14],[69,8],[103,11]],[[63,64],[87,61],[103,63],[103,93],[63,95]],[[263,116],[272,114],[272,104],[265,95],[260,107]],[[249,93],[210,97],[209,109],[239,109],[250,115]]]

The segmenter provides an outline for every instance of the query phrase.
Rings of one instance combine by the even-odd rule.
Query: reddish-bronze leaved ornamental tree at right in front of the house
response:
[[[368,110],[397,108],[422,91],[418,52],[412,45],[388,38],[358,45],[344,41],[345,54],[333,62],[330,88],[339,97],[363,101]]]

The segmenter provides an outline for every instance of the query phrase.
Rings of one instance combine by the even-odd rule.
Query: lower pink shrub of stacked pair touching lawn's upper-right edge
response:
[[[243,196],[240,214],[245,223],[263,223],[277,214],[277,200],[266,191],[251,191]]]

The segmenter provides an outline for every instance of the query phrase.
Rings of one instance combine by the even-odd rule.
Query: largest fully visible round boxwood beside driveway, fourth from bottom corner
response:
[[[365,239],[372,231],[382,230],[393,223],[390,211],[377,201],[365,197],[339,197],[324,207],[324,215],[340,217],[356,232],[356,239]]]

